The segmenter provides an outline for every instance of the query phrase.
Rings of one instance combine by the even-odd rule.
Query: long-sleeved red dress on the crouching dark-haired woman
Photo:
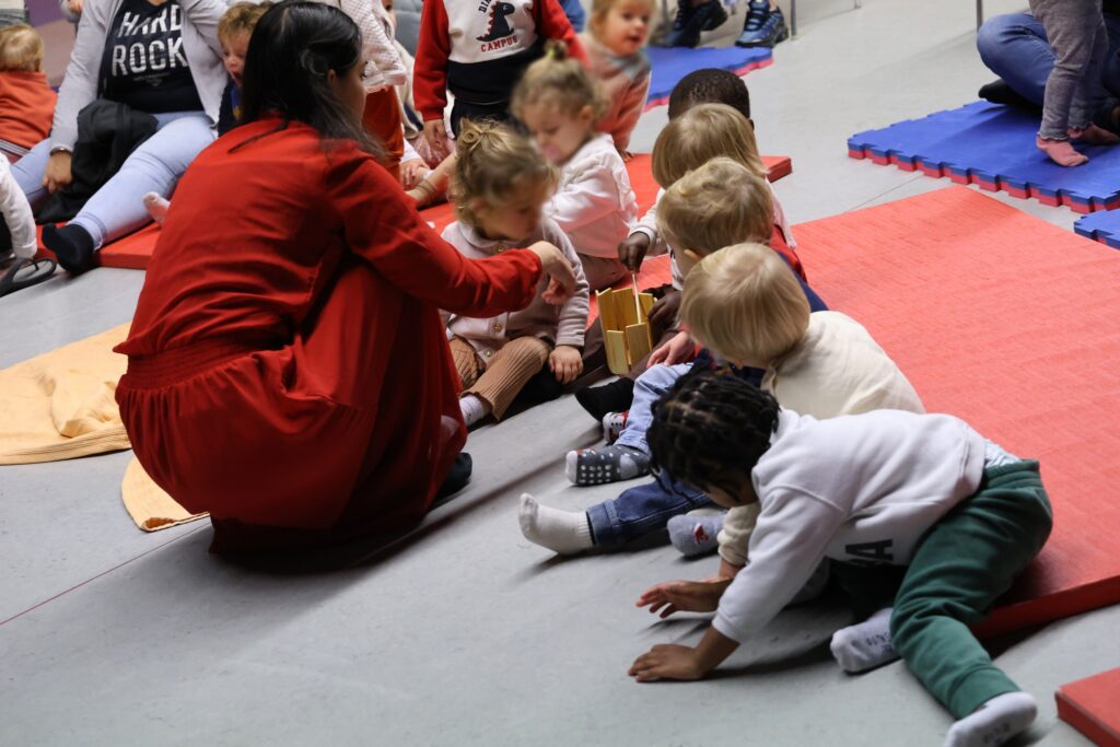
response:
[[[137,457],[211,512],[215,551],[419,521],[466,441],[438,309],[523,308],[541,272],[531,252],[464,259],[354,143],[278,127],[184,175],[116,348]]]

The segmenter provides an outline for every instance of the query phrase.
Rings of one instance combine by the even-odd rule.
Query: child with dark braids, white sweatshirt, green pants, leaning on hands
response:
[[[750,563],[734,580],[653,587],[662,617],[715,611],[697,646],[638,656],[638,682],[699,680],[785,606],[822,558],[905,568],[894,648],[953,716],[946,747],[1001,745],[1037,704],[969,626],[1042,550],[1053,514],[1038,463],[944,414],[879,410],[816,420],[732,376],[679,381],[654,410],[653,459],[727,507],[758,504]],[[833,646],[836,647],[836,646]]]

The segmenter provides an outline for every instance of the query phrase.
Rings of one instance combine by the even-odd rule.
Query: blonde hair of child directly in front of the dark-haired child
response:
[[[653,178],[668,189],[717,156],[727,156],[756,176],[766,176],[755,131],[743,114],[727,104],[693,106],[670,120],[653,143]]]

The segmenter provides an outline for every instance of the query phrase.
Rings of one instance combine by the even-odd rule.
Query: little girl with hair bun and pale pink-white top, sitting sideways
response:
[[[610,136],[595,130],[606,106],[603,86],[557,43],[529,66],[511,103],[536,149],[560,168],[545,209],[571,240],[594,290],[628,274],[617,246],[637,221],[626,165]]]

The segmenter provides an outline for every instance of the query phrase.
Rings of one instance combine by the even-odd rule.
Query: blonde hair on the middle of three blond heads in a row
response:
[[[670,245],[701,256],[744,241],[768,244],[774,231],[769,186],[730,158],[713,158],[661,196],[657,228]]]

